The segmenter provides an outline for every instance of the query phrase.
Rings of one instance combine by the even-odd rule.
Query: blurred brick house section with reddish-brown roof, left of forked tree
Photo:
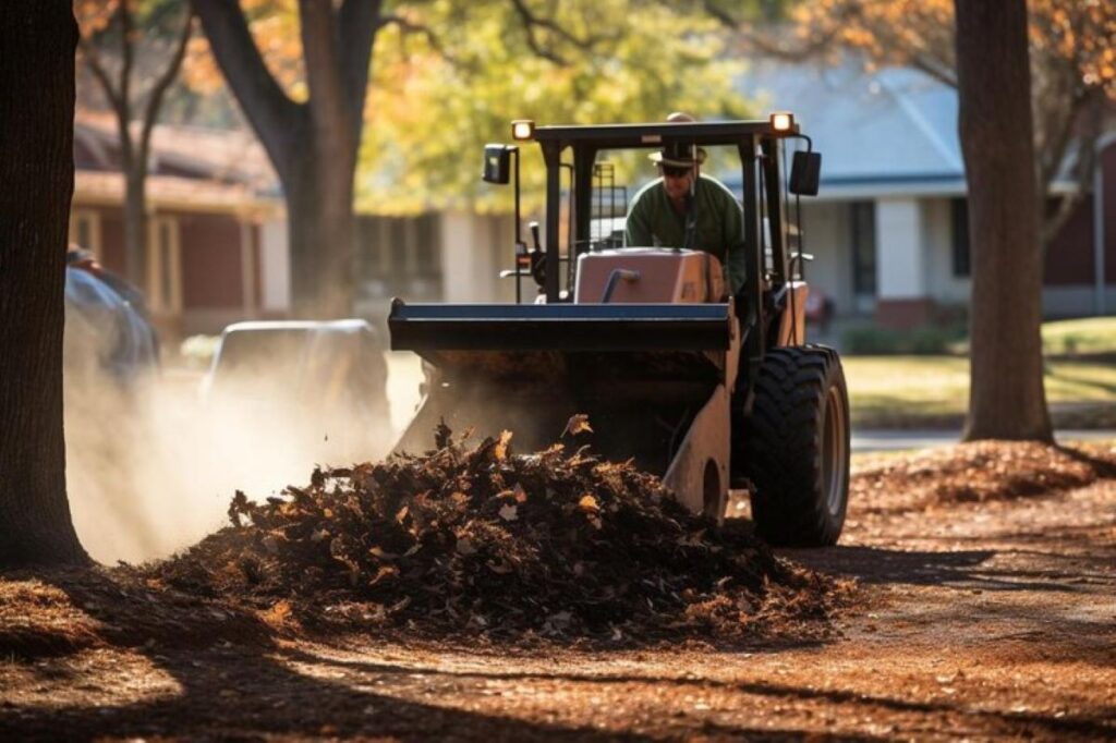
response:
[[[124,193],[112,116],[74,127],[69,237],[124,273]],[[282,197],[262,147],[242,132],[156,126],[147,177],[144,293],[167,339],[234,320],[282,316],[290,303]]]

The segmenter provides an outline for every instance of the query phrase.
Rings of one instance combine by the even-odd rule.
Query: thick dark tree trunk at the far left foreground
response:
[[[0,566],[88,560],[62,438],[76,45],[69,0],[0,3]]]

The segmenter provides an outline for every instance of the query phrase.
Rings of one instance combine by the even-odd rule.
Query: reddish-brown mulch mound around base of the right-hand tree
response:
[[[849,500],[870,503],[876,493],[899,492],[927,505],[985,502],[1083,488],[1105,477],[1116,477],[1113,445],[982,441],[869,463],[853,477]]]

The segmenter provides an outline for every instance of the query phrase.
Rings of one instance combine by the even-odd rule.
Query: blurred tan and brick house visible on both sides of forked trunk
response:
[[[124,273],[125,183],[115,126],[109,115],[78,114],[69,239]],[[288,317],[286,208],[259,142],[247,131],[158,125],[152,152],[141,289],[164,339]],[[512,299],[510,282],[497,279],[511,260],[511,234],[510,216],[358,215],[354,315],[383,322],[393,297]]]

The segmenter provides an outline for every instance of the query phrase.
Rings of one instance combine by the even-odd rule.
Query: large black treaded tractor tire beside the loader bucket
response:
[[[760,365],[733,457],[752,484],[760,537],[787,547],[837,543],[848,505],[849,415],[837,351],[789,346]]]

